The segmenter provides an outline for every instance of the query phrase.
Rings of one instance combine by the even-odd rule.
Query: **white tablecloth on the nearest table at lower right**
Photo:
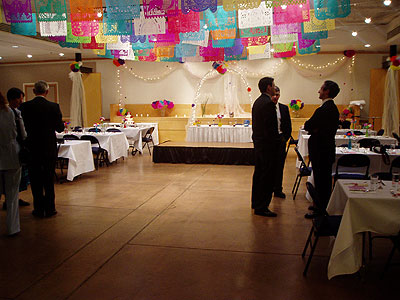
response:
[[[400,197],[391,195],[391,182],[385,181],[383,189],[368,193],[349,191],[353,182],[339,180],[327,208],[331,215],[343,215],[329,260],[329,279],[360,269],[363,232],[396,235],[400,230]]]

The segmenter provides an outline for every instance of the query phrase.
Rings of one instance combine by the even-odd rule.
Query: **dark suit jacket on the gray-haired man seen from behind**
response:
[[[60,106],[38,96],[19,107],[27,132],[26,145],[34,156],[56,157],[56,131],[64,130]]]

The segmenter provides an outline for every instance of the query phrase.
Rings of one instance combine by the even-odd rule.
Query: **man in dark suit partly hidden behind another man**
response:
[[[278,119],[278,132],[279,132],[279,145],[278,156],[276,158],[276,171],[275,171],[275,184],[274,196],[278,198],[286,198],[285,193],[282,191],[283,169],[286,160],[286,144],[292,135],[292,121],[290,120],[289,108],[287,105],[279,103],[281,90],[275,86],[275,96],[272,97],[272,102],[276,105],[276,116]]]

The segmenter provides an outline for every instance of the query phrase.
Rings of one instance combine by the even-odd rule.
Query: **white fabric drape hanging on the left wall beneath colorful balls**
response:
[[[72,80],[70,108],[71,126],[84,127],[86,123],[86,99],[85,88],[82,81],[82,73],[71,72],[69,73],[69,78]]]

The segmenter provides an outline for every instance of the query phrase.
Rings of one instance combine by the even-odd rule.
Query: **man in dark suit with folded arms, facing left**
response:
[[[325,207],[328,205],[332,192],[332,164],[336,158],[335,135],[339,120],[339,111],[333,99],[339,92],[340,88],[336,82],[325,81],[318,91],[322,105],[304,124],[304,129],[311,134],[308,140],[308,152],[315,189]],[[306,215],[306,218],[310,217],[313,215]]]

